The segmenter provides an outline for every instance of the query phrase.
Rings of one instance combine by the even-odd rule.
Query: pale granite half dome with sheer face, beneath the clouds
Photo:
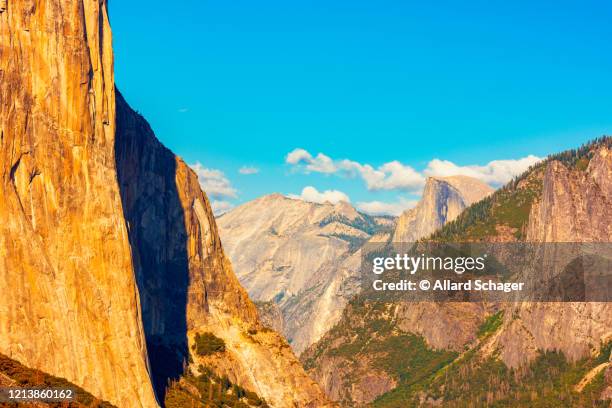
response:
[[[415,242],[431,235],[492,192],[491,187],[472,177],[429,177],[416,207],[398,218],[393,242]]]

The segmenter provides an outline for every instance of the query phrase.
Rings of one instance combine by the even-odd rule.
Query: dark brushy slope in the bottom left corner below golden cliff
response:
[[[113,408],[114,405],[97,399],[81,387],[65,380],[64,378],[49,375],[40,370],[35,370],[0,354],[0,384],[14,387],[39,387],[39,388],[70,388],[75,392],[75,400],[64,403],[45,403],[51,407],[74,407],[74,408]],[[17,407],[17,404],[0,403],[2,407]],[[23,406],[23,405],[19,405]]]

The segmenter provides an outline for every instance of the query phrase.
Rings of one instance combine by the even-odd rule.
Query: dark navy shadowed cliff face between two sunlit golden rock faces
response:
[[[160,401],[187,360],[189,260],[176,157],[117,92],[117,177],[140,292],[151,376]]]

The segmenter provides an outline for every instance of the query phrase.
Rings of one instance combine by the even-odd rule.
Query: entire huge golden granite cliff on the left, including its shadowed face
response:
[[[121,407],[163,403],[184,363],[326,404],[261,326],[197,176],[116,93],[106,1],[0,13],[0,157],[0,353]],[[197,333],[223,351],[194,355]]]

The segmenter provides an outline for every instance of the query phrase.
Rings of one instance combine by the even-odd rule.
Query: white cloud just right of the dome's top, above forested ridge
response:
[[[516,160],[493,160],[483,166],[458,166],[448,160],[434,159],[429,162],[423,173],[427,176],[439,177],[470,176],[499,187],[540,160],[542,160],[540,157],[529,155]]]

